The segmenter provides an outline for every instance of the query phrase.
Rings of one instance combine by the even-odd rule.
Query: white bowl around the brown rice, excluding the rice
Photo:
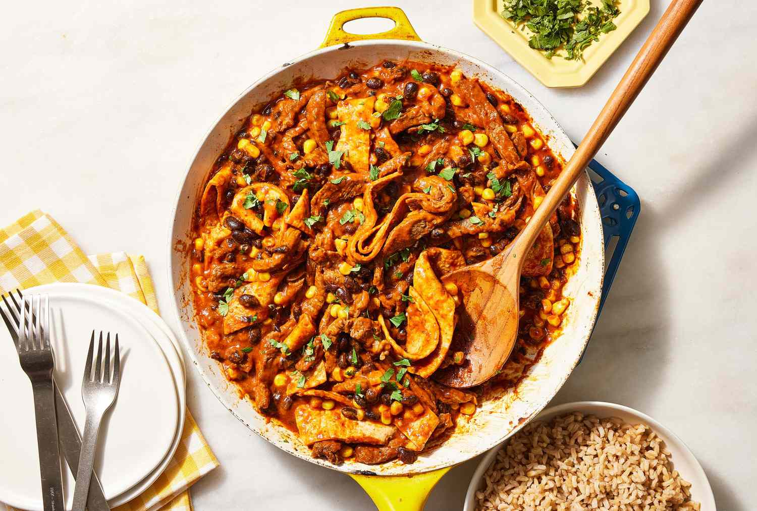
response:
[[[715,495],[712,494],[707,475],[696,461],[693,453],[686,447],[684,441],[678,438],[673,432],[664,425],[657,422],[650,416],[647,416],[633,408],[624,407],[620,404],[603,403],[600,401],[578,401],[577,403],[560,404],[556,407],[549,407],[540,413],[534,420],[549,420],[554,416],[563,413],[582,412],[591,414],[600,418],[618,417],[628,424],[646,424],[657,433],[659,438],[665,441],[665,447],[668,447],[672,455],[673,466],[681,474],[681,478],[691,483],[691,497],[696,502],[702,504],[701,511],[715,511]],[[463,511],[475,510],[475,492],[481,486],[481,481],[494,459],[497,452],[506,444],[504,441],[497,447],[492,448],[481,458],[478,469],[473,474],[468,493],[466,494],[466,503]]]

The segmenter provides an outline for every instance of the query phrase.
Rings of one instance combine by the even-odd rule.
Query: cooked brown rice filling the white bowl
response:
[[[476,511],[699,511],[648,426],[569,413],[513,435],[476,491]]]

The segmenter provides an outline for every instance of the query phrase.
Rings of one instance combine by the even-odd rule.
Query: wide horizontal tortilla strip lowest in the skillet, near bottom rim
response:
[[[307,404],[294,410],[294,419],[305,445],[322,440],[341,440],[349,444],[386,444],[396,431],[379,422],[347,419],[338,410],[313,410]]]

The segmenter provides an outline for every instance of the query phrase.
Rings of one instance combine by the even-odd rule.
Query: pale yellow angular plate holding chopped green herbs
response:
[[[591,3],[601,4],[597,0]],[[618,28],[603,34],[599,41],[586,48],[583,61],[566,61],[558,55],[546,58],[530,48],[531,32],[505,20],[500,15],[503,4],[504,0],[473,0],[473,21],[547,87],[580,87],[587,83],[650,11],[650,0],[620,0],[621,13],[613,20]]]

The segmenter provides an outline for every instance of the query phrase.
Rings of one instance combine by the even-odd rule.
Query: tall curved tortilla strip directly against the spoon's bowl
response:
[[[436,369],[439,368],[447,356],[452,343],[452,334],[455,331],[455,301],[444,289],[444,285],[431,269],[431,263],[428,261],[428,254],[422,251],[416,267],[413,271],[413,287],[415,287],[423,300],[431,307],[439,324],[441,341],[437,344],[435,350],[423,360],[413,363],[407,370],[416,375],[428,378]]]

